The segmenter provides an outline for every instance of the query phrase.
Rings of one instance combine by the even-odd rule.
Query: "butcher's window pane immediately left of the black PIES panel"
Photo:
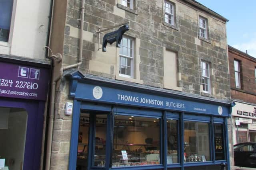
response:
[[[209,123],[184,121],[184,162],[209,160]]]

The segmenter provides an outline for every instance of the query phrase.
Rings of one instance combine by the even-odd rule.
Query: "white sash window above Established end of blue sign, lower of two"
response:
[[[202,86],[203,92],[210,93],[210,64],[202,61]]]

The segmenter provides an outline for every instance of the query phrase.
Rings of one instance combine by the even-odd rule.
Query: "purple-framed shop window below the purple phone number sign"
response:
[[[0,125],[7,122],[4,114],[9,117],[8,129],[5,125],[0,130],[0,158],[5,159],[5,166],[10,166],[9,170],[40,169],[45,102],[0,98],[0,108],[5,109],[0,111]],[[4,137],[8,140],[3,133],[7,133]],[[9,155],[4,153],[7,151]]]

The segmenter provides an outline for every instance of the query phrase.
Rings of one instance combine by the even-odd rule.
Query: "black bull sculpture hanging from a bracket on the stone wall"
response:
[[[124,25],[116,31],[105,34],[103,37],[102,52],[106,52],[107,43],[112,44],[112,43],[116,42],[116,47],[120,48],[121,47],[120,43],[123,38],[123,35],[128,30],[129,30],[129,26]]]

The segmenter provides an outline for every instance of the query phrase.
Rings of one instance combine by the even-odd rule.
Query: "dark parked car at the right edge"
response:
[[[234,145],[235,166],[256,168],[256,142]]]

